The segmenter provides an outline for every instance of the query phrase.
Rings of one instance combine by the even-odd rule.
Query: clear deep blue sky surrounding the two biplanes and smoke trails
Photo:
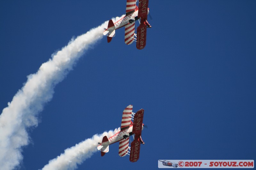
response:
[[[125,1],[1,1],[0,108],[72,37],[125,13]],[[140,159],[118,144],[78,169],[151,169],[159,159],[256,158],[256,2],[149,1],[147,45],[103,37],[54,89],[29,129],[20,169],[40,169],[66,148],[145,110]],[[102,30],[103,31],[103,30]]]

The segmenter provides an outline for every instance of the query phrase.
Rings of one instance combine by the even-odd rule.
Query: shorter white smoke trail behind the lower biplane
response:
[[[92,138],[86,139],[71,148],[68,148],[55,159],[49,161],[49,164],[45,165],[42,170],[72,170],[76,169],[77,165],[80,165],[85,161],[85,159],[90,158],[92,154],[97,150],[98,142],[102,141],[104,136],[111,137],[120,128],[114,131],[104,132],[101,135],[94,135]]]

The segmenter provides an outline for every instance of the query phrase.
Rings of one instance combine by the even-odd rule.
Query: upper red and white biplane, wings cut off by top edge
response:
[[[115,23],[113,23],[112,19],[109,20],[108,28],[103,32],[107,36],[108,42],[116,35],[116,29],[125,27],[125,44],[130,45],[133,41],[136,41],[137,49],[143,49],[146,46],[147,28],[151,28],[148,23],[148,0],[139,0],[138,6],[136,2],[136,0],[127,0],[125,16]],[[136,20],[140,22],[140,26],[137,28],[137,34],[135,33]]]

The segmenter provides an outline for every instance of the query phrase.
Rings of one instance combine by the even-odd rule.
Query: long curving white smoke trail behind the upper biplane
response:
[[[103,28],[107,24],[108,21],[72,39],[35,74],[29,75],[24,86],[8,102],[0,115],[0,169],[9,170],[19,165],[22,146],[29,143],[27,129],[38,125],[37,115],[52,99],[55,85],[72,70],[85,50],[103,37]]]

